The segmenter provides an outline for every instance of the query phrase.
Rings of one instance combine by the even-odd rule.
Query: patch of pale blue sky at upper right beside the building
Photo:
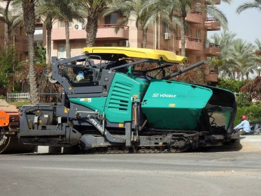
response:
[[[261,40],[261,12],[250,9],[237,14],[236,8],[246,2],[253,2],[253,0],[232,0],[230,5],[221,1],[220,5],[216,6],[227,17],[229,32],[236,33],[236,38],[238,39],[243,39],[254,44],[256,38]],[[211,38],[215,33],[219,34],[220,32],[207,32],[208,38]]]

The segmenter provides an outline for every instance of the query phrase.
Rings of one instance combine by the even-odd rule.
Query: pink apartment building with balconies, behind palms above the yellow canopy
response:
[[[220,0],[216,1],[220,4]],[[188,57],[188,64],[207,59],[207,56],[219,56],[220,48],[214,43],[207,42],[207,31],[220,30],[220,23],[214,18],[208,18],[202,10],[204,6],[196,3],[193,11],[186,17],[189,25],[186,34],[185,52]],[[135,21],[131,21],[115,33],[115,23],[123,17],[121,14],[113,13],[106,17],[99,17],[98,33],[95,39],[95,46],[123,46],[141,47],[142,32],[137,30]],[[176,25],[177,26],[177,25]],[[147,48],[168,50],[181,54],[181,40],[179,28],[176,34],[168,29],[164,23],[156,23],[148,28]],[[71,56],[82,53],[86,46],[86,32],[84,25],[78,21],[70,24]],[[65,25],[62,21],[54,23],[52,30],[52,56],[65,58]]]

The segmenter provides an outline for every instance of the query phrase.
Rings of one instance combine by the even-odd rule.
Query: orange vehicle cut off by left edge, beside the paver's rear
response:
[[[30,152],[34,146],[19,144],[19,109],[0,100],[0,153]]]

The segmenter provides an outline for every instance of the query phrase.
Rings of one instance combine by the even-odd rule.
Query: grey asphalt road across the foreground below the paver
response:
[[[0,195],[260,195],[261,152],[0,155]]]

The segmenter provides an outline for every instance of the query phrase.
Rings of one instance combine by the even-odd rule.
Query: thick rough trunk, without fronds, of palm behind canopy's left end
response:
[[[88,16],[87,24],[85,26],[85,31],[87,33],[86,45],[87,47],[93,47],[98,31],[98,16],[96,15]]]

